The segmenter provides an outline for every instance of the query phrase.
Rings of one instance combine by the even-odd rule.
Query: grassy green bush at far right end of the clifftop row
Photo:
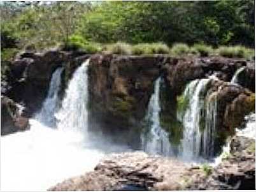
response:
[[[217,53],[228,58],[248,58],[254,51],[244,46],[221,46],[217,49]]]

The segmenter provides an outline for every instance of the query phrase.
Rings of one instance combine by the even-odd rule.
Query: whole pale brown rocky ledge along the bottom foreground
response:
[[[73,177],[48,189],[77,190],[199,190],[255,189],[255,140],[237,136],[231,154],[217,167],[193,167],[173,158],[142,152],[111,155],[93,172]]]

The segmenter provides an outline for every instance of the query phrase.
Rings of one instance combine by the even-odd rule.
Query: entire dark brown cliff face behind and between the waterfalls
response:
[[[220,131],[232,132],[249,111],[255,110],[254,65],[245,60],[211,58],[172,58],[167,55],[120,56],[115,54],[86,55],[64,51],[18,54],[11,65],[8,82],[2,82],[1,94],[25,106],[24,117],[31,117],[45,99],[50,78],[57,67],[64,67],[62,93],[75,69],[90,58],[89,92],[92,129],[117,127],[128,140],[138,138],[139,124],[145,117],[153,83],[164,79],[161,91],[161,124],[164,128],[176,118],[176,98],[190,80],[215,75],[208,96],[218,94]],[[238,85],[227,81],[240,67],[246,79]],[[242,78],[243,79],[243,78]],[[243,105],[241,103],[246,103]],[[2,125],[4,126],[4,124]],[[133,131],[132,131],[133,129]],[[126,132],[125,132],[126,131]],[[223,137],[225,138],[225,136]],[[224,140],[224,139],[222,139]]]

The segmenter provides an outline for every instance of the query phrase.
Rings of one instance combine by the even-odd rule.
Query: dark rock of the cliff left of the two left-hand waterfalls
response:
[[[73,68],[78,66],[75,59],[78,56],[78,53],[59,50],[20,53],[10,65],[7,80],[1,83],[1,94],[22,103],[27,109],[25,115],[31,117],[45,99],[54,70],[65,67],[64,76],[71,76]]]

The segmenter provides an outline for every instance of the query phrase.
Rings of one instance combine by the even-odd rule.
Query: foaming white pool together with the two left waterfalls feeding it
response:
[[[105,151],[124,151],[103,138],[85,137],[87,133],[87,65],[79,67],[69,82],[62,108],[54,122],[61,69],[51,80],[48,96],[31,130],[1,136],[1,191],[45,191],[57,182],[93,170]],[[53,82],[54,81],[54,82]],[[92,141],[96,139],[96,141]]]

